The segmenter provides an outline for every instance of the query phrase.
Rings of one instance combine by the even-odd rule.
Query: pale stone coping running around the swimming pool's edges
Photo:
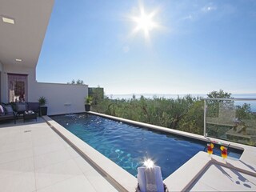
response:
[[[178,134],[181,136],[199,139],[204,142],[222,142],[223,144],[230,144],[230,146],[244,150],[241,158],[238,161],[228,159],[228,163],[223,162],[221,157],[212,155],[211,158],[205,152],[198,152],[194,155],[193,158],[190,158],[188,162],[182,165],[178,170],[173,174],[170,174],[164,182],[170,191],[182,191],[190,187],[190,185],[199,177],[200,174],[212,163],[222,164],[222,166],[232,167],[233,169],[241,170],[247,174],[255,174],[255,171],[249,167],[255,167],[256,164],[255,158],[252,158],[251,153],[256,155],[255,147],[245,146],[242,144],[234,142],[226,142],[216,138],[203,137],[198,134],[190,134],[180,130],[171,130],[162,126],[154,126],[143,122],[135,122],[124,118],[117,118],[106,114],[98,114],[95,112],[87,112],[87,114],[94,114],[102,116],[105,118],[114,119],[117,121],[127,122],[137,126],[145,126],[153,130],[161,130],[170,134]],[[100,154],[97,150],[94,150],[91,146],[83,142],[80,138],[76,137],[70,131],[66,130],[64,127],[59,125],[57,122],[54,122],[51,118],[44,117],[48,125],[54,129],[58,134],[65,138],[78,152],[80,152],[90,163],[98,168],[102,174],[106,175],[106,178],[120,191],[134,191],[137,186],[137,178],[132,174],[128,173],[126,170],[123,170],[122,167],[118,166],[112,162],[109,158],[106,158],[104,155]],[[253,155],[253,156],[254,156]],[[200,163],[198,163],[200,162]],[[245,166],[246,165],[246,166]],[[190,170],[190,171],[187,171]],[[254,175],[256,177],[256,174]],[[182,178],[182,179],[181,179]],[[178,185],[177,185],[178,183]]]

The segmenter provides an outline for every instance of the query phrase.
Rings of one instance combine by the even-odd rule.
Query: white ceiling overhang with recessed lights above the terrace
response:
[[[54,0],[0,0],[0,62],[35,67]],[[2,21],[14,19],[14,24]],[[22,59],[22,61],[16,61]]]

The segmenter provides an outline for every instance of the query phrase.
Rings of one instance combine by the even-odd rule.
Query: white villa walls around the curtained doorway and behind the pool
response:
[[[35,68],[10,66],[0,63],[1,102],[8,101],[7,74],[27,74],[28,102],[38,102],[41,96],[46,97],[48,114],[80,113],[85,111],[84,101],[88,96],[87,85],[68,85],[60,83],[36,82]],[[70,104],[67,106],[66,104]]]

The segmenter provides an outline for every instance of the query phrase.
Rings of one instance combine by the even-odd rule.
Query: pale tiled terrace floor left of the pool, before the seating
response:
[[[0,125],[0,190],[117,191],[42,118]]]

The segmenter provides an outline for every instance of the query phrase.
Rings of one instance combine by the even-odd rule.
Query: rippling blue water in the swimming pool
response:
[[[89,114],[52,116],[54,121],[94,147],[113,162],[137,175],[146,158],[161,166],[163,179],[172,174],[199,151],[206,142],[178,137]],[[214,153],[220,154],[219,146]],[[239,158],[242,151],[230,149],[229,156]]]

